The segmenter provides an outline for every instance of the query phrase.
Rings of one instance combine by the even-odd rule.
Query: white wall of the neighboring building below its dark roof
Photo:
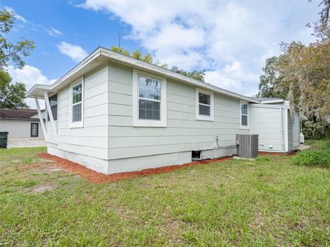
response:
[[[38,138],[31,137],[31,123],[39,124],[39,138],[43,138],[39,119],[0,119],[0,132],[9,132],[8,138]]]

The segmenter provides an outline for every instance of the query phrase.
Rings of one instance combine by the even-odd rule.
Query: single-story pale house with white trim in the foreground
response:
[[[298,111],[293,125],[284,100],[245,97],[102,47],[27,97],[38,108],[45,99],[51,113],[47,152],[105,174],[232,155],[236,134],[259,134],[260,150],[298,146]]]

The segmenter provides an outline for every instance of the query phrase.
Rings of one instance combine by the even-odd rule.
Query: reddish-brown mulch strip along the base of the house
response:
[[[190,167],[190,166],[196,166],[196,165],[205,165],[211,162],[221,162],[221,161],[227,161],[232,158],[232,156],[224,157],[224,158],[214,158],[212,160],[204,160],[204,161],[194,161],[192,163],[186,163],[184,165],[170,165],[166,167],[158,167],[158,168],[151,168],[151,169],[143,169],[141,171],[136,172],[120,172],[116,174],[102,174],[100,172],[95,172],[92,169],[89,169],[83,165],[80,165],[78,163],[74,163],[72,161],[69,161],[65,158],[60,158],[58,156],[54,156],[47,153],[39,153],[37,154],[40,158],[45,158],[50,161],[55,161],[56,165],[58,167],[61,167],[63,169],[67,169],[70,172],[75,172],[79,176],[86,178],[89,180],[90,183],[93,184],[102,184],[102,183],[108,183],[108,182],[116,182],[120,181],[125,178],[137,178],[140,176],[150,176],[153,174],[160,174],[164,172],[172,172],[176,169],[179,169],[181,167]]]

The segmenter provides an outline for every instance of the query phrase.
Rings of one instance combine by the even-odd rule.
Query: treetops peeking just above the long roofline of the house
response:
[[[151,54],[142,54],[142,51],[136,49],[134,50],[132,53],[130,53],[128,50],[122,48],[122,47],[116,47],[116,46],[112,46],[111,51],[115,51],[119,54],[125,55],[125,56],[131,56],[131,58],[135,58],[138,60],[142,60],[144,62],[148,62],[150,64],[155,64],[159,67],[168,69],[168,64],[163,63],[161,64],[161,62],[159,62],[159,60],[153,60],[153,57],[151,56]],[[204,76],[205,76],[205,71],[198,71],[198,70],[194,70],[194,71],[185,71],[183,69],[179,69],[179,67],[173,66],[172,68],[170,68],[171,71],[175,71],[181,75],[186,75],[190,78],[193,78],[195,80],[199,80],[201,82],[204,81]]]

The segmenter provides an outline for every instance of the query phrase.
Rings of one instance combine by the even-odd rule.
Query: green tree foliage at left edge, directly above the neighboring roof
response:
[[[25,84],[12,83],[7,71],[0,69],[0,108],[29,108],[25,103]]]

